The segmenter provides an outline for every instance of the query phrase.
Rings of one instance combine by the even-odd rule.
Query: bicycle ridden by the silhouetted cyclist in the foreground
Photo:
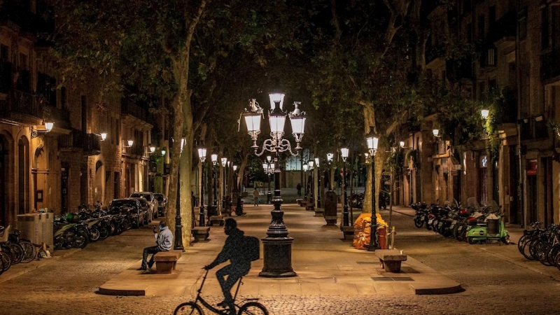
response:
[[[233,296],[235,309],[233,309],[233,310],[231,310],[231,309],[217,309],[216,307],[212,306],[211,304],[209,304],[209,302],[204,300],[204,298],[202,298],[202,296],[201,296],[202,287],[204,286],[204,282],[206,281],[207,276],[208,276],[208,270],[206,271],[206,273],[202,277],[202,283],[200,283],[200,288],[198,288],[198,290],[197,290],[197,297],[195,298],[195,300],[179,304],[179,306],[176,307],[175,311],[173,312],[174,315],[176,315],[176,314],[199,314],[199,315],[202,315],[202,314],[204,314],[204,311],[202,311],[202,307],[200,307],[200,304],[204,305],[204,307],[206,307],[207,309],[212,311],[214,314],[220,314],[220,315],[230,315],[230,314],[265,314],[265,315],[268,315],[268,311],[267,311],[266,307],[264,305],[260,304],[259,302],[255,302],[256,300],[258,300],[256,298],[245,299],[245,300],[243,300],[239,303],[235,303],[235,299],[237,298],[237,293],[239,292],[239,286],[241,286],[241,284],[243,284],[243,282],[241,281],[241,280],[243,280],[243,278],[239,279],[239,282],[237,283],[237,288],[235,289],[235,295]],[[248,301],[248,302],[246,302],[246,301]]]

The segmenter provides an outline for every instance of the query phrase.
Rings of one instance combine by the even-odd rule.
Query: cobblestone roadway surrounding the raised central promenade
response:
[[[382,214],[388,217],[386,211]],[[394,213],[392,220],[398,229],[397,248],[458,281],[465,291],[452,295],[260,297],[260,302],[270,314],[556,314],[560,309],[560,271],[527,262],[517,246],[468,245],[444,239],[414,228],[409,211]],[[289,224],[287,221],[288,229]],[[2,282],[0,276],[0,314],[172,314],[191,297],[95,293],[102,283],[137,262],[142,248],[152,243],[151,227],[130,230],[13,279]],[[208,300],[216,303],[221,297]]]

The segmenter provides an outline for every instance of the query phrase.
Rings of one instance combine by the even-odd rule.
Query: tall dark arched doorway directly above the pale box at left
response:
[[[29,213],[29,141],[21,137],[18,141],[18,214]]]

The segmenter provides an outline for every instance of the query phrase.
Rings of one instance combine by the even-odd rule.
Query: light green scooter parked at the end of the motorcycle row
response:
[[[467,231],[468,244],[488,241],[502,241],[503,244],[510,244],[510,233],[505,230],[502,216],[490,214],[482,223],[478,223]]]

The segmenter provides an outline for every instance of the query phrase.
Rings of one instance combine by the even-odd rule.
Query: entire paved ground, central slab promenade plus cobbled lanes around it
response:
[[[241,298],[258,297],[270,314],[556,314],[560,309],[560,271],[526,260],[517,246],[445,239],[414,228],[414,211],[395,207],[391,216],[397,227],[395,247],[407,253],[408,260],[402,274],[387,274],[372,253],[356,251],[344,241],[338,227],[325,226],[313,212],[289,205],[295,200],[289,191],[284,200],[284,221],[295,239],[292,266],[297,277],[258,277],[262,268],[258,260],[239,293]],[[246,204],[248,216],[236,217],[239,228],[247,235],[265,237],[271,206],[252,207],[251,200]],[[389,212],[381,214],[388,221]],[[507,229],[517,242],[522,230]],[[172,314],[178,304],[193,299],[202,266],[214,259],[224,239],[222,228],[212,228],[210,239],[188,248],[179,272],[171,275],[135,270],[142,249],[153,244],[151,226],[88,244],[83,250],[55,251],[53,258],[15,265],[0,276],[0,314]],[[204,289],[204,297],[214,304],[223,299],[215,271]],[[408,279],[396,279],[401,276]],[[430,283],[441,288],[442,281],[464,290],[415,294],[415,288]],[[120,290],[123,283],[145,295],[97,293],[100,288]]]

